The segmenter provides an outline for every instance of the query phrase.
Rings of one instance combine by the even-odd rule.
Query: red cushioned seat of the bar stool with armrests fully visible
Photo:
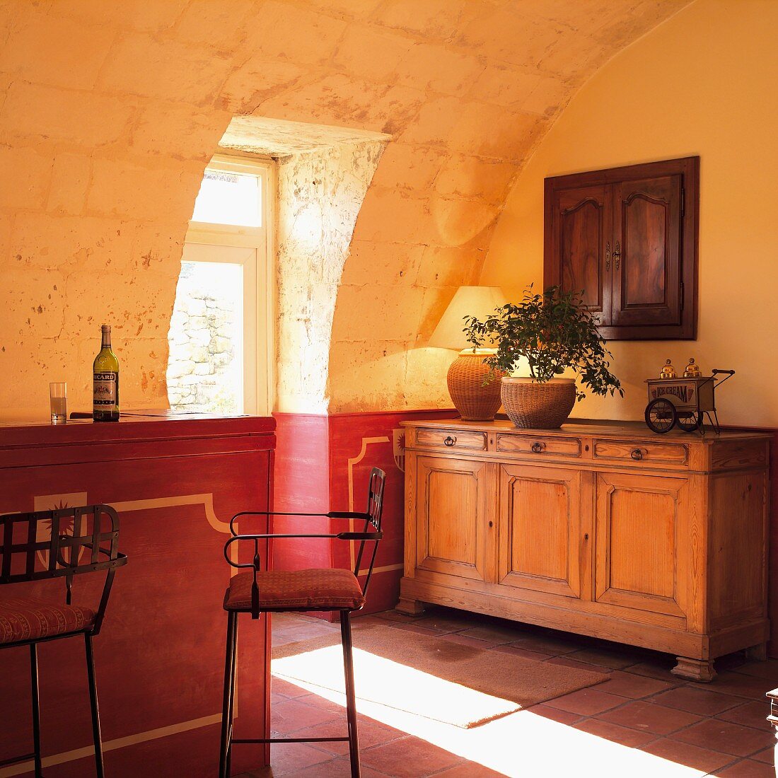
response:
[[[226,611],[251,610],[254,573],[233,576],[224,596]],[[365,604],[362,587],[351,570],[269,570],[257,573],[259,609],[359,610]]]

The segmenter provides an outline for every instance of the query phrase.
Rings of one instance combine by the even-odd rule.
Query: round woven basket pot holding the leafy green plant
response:
[[[576,404],[572,378],[552,378],[545,384],[531,378],[503,378],[500,387],[505,412],[521,429],[557,429]]]

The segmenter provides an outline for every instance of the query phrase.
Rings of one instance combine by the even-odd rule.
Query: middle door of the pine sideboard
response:
[[[580,472],[500,466],[499,582],[580,596]]]

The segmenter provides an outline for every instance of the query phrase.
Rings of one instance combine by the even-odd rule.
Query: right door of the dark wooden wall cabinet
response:
[[[681,176],[617,184],[612,323],[681,321]]]

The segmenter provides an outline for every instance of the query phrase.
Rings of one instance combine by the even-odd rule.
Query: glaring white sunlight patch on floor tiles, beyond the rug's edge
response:
[[[340,670],[342,673],[342,666]],[[345,706],[344,696],[340,692],[289,678],[284,680]],[[359,683],[358,679],[358,688]],[[406,686],[404,692],[415,695],[419,689]],[[531,710],[510,713],[471,729],[443,724],[363,699],[357,700],[357,710],[363,716],[445,748],[450,753],[510,778],[551,778],[563,775],[575,775],[576,778],[700,778],[706,774],[559,724]]]

